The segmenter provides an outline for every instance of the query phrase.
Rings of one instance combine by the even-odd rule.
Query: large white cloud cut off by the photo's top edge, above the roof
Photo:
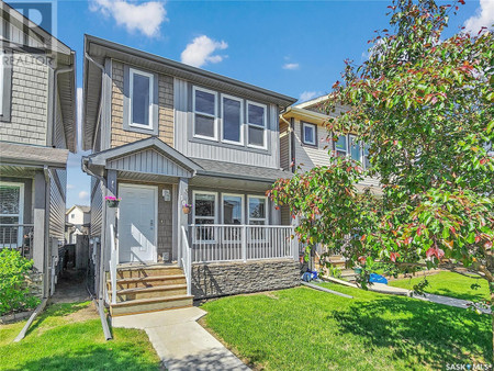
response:
[[[168,21],[162,1],[91,0],[89,9],[106,18],[112,16],[117,25],[131,33],[138,31],[148,37],[157,36],[161,23]]]

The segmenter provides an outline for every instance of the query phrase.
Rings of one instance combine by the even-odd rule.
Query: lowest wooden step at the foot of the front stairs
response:
[[[168,297],[150,297],[131,300],[110,305],[112,316],[122,316],[137,313],[157,312],[179,307],[192,306],[192,295],[176,295]]]

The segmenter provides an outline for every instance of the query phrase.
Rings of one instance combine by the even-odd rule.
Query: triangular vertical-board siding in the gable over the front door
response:
[[[135,154],[110,160],[109,169],[145,172],[159,176],[189,178],[190,171],[155,149],[145,149]]]

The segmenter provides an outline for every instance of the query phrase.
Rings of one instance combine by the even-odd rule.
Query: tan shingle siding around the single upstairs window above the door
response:
[[[159,75],[158,78],[158,137],[166,144],[173,146],[173,78]],[[111,147],[119,147],[127,143],[150,137],[123,128],[124,104],[124,65],[112,61],[112,133]]]

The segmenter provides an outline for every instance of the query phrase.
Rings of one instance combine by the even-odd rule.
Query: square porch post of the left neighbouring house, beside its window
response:
[[[33,236],[33,260],[34,268],[41,273],[44,272],[45,261],[45,232],[48,233],[45,225],[46,214],[46,181],[42,171],[34,176],[34,236]]]

